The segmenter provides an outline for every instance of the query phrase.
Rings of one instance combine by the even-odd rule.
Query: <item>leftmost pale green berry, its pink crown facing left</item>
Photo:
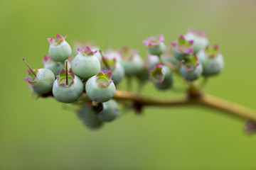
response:
[[[55,75],[50,69],[33,69],[36,77],[28,70],[28,76],[24,80],[31,84],[33,91],[38,94],[46,94],[53,89],[53,82],[55,81]]]

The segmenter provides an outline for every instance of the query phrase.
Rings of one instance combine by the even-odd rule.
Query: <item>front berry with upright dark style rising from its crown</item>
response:
[[[73,72],[68,73],[68,84],[66,84],[66,72],[63,69],[54,81],[53,96],[57,101],[73,103],[82,95],[83,89],[82,81]]]

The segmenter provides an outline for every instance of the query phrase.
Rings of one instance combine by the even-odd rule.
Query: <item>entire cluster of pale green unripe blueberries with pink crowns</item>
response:
[[[156,89],[166,90],[173,86],[174,73],[189,82],[223,69],[218,45],[210,46],[206,33],[198,30],[188,30],[167,47],[163,35],[142,41],[148,47],[146,60],[129,47],[102,52],[87,42],[75,42],[78,50],[74,52],[65,38],[48,38],[44,68],[31,69],[26,63],[29,69],[25,81],[41,96],[50,94],[63,103],[82,101],[79,115],[90,128],[100,128],[119,115],[118,103],[112,97],[124,77],[136,77],[139,84],[149,80]]]

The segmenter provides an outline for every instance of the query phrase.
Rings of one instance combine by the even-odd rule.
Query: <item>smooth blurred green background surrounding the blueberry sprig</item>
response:
[[[43,67],[46,38],[57,33],[145,58],[142,40],[162,33],[169,43],[188,28],[208,32],[225,57],[206,91],[256,110],[256,1],[1,0],[0,169],[256,169],[255,136],[223,112],[146,108],[92,131],[53,98],[31,98],[23,81],[21,58]],[[143,94],[176,96],[152,84]]]

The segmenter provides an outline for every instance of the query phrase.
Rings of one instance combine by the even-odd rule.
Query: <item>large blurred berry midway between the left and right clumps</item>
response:
[[[143,67],[143,60],[137,53],[137,50],[130,50],[123,47],[120,50],[122,56],[121,64],[124,67],[125,75],[132,76],[137,74]]]

